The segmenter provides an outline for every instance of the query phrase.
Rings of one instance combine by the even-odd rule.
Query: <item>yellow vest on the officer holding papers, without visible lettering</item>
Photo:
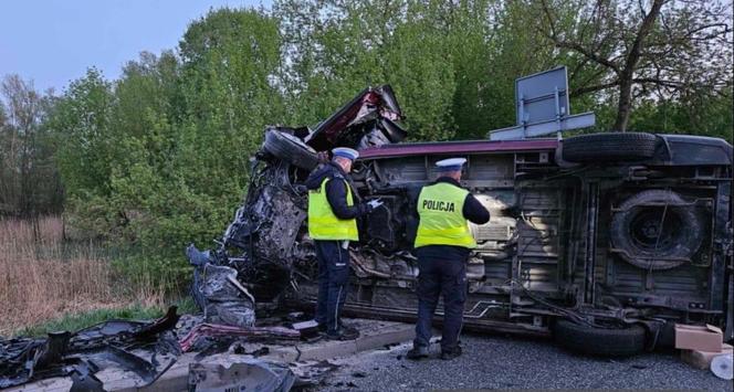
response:
[[[339,181],[338,179],[335,179]],[[325,178],[318,189],[308,191],[308,235],[314,240],[349,240],[359,241],[356,219],[338,219],[332,205],[326,199]],[[344,181],[347,187],[347,205],[354,205],[352,200],[352,187]]]

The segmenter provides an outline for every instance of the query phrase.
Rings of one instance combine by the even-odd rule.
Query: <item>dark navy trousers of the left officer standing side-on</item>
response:
[[[342,247],[342,241],[314,240],[318,258],[318,301],[316,317],[325,324],[327,332],[339,327],[339,315],[347,297],[349,283],[349,251]]]

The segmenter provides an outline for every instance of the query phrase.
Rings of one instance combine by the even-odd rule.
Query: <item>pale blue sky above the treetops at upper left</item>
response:
[[[93,65],[116,78],[139,52],[175,49],[209,9],[261,4],[271,0],[0,0],[0,77],[56,93]]]

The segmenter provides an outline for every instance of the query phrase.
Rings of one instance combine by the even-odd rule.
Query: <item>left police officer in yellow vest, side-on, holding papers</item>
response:
[[[349,241],[358,241],[357,218],[382,204],[379,200],[361,203],[349,178],[358,152],[335,148],[333,159],[311,173],[308,189],[308,235],[314,240],[318,258],[318,300],[316,316],[326,338],[356,339],[358,332],[342,325],[339,315],[349,282]],[[356,203],[355,203],[356,201]]]

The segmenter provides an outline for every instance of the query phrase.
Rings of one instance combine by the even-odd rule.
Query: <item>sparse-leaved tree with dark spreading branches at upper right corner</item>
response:
[[[731,89],[731,2],[542,0],[528,8],[552,44],[594,68],[574,94],[615,88],[615,130],[628,128],[635,99]]]

